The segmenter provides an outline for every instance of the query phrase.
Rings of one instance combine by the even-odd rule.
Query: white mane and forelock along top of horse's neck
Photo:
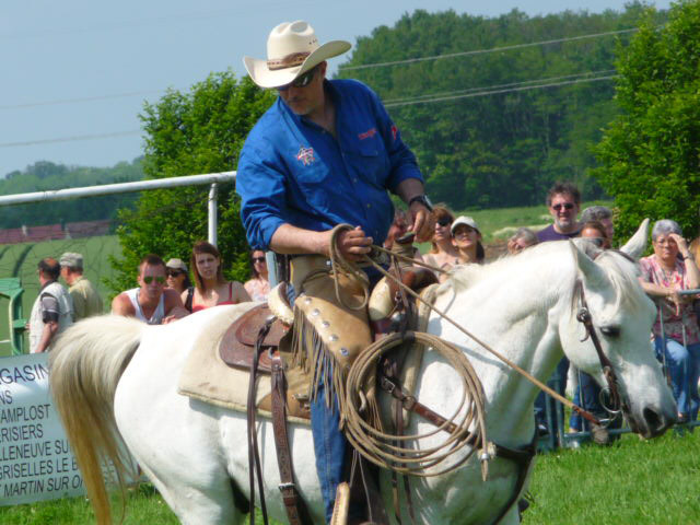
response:
[[[646,295],[637,280],[639,266],[633,260],[617,250],[603,250],[594,243],[583,238],[572,241],[584,254],[595,259],[607,275],[615,290],[616,308],[621,304],[633,308],[643,306]],[[541,243],[517,255],[506,255],[486,265],[456,266],[450,271],[447,280],[441,285],[438,293],[465,291],[495,276],[501,278],[497,280],[500,283],[504,276],[509,276],[513,271],[523,273],[527,272],[530,267],[534,271],[541,268],[542,260],[561,260],[560,256],[570,255],[570,249],[568,244],[562,242]]]

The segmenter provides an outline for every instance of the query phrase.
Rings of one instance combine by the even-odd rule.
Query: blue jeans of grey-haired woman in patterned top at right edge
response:
[[[654,337],[656,359],[663,363],[664,342]],[[666,338],[666,366],[670,376],[670,386],[678,405],[678,413],[688,421],[698,419],[700,397],[698,396],[698,378],[700,377],[700,342],[684,347],[675,339]]]

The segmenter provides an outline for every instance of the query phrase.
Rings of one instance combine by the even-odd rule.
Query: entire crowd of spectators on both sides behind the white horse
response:
[[[547,194],[546,203],[552,223],[537,232],[520,228],[508,240],[508,254],[517,255],[538,243],[576,236],[587,237],[603,249],[612,247],[612,211],[604,206],[592,206],[579,218],[581,194],[575,185],[557,183]],[[455,218],[447,207],[436,206],[433,218],[430,249],[421,256],[411,247],[411,256],[434,268],[441,279],[445,278],[446,270],[457,265],[485,262],[482,234],[471,217]],[[385,248],[396,249],[407,229],[405,214],[397,211]],[[700,408],[700,329],[696,313],[699,302],[693,302],[695,295],[679,292],[700,288],[700,269],[696,261],[696,255],[700,256],[700,240],[688,245],[679,225],[664,219],[653,226],[652,247],[654,253],[640,260],[640,283],[657,306],[651,342],[669,378],[679,420],[695,421]],[[164,262],[158,255],[147,255],[138,267],[139,285],[118,294],[112,302],[112,312],[148,324],[165,324],[212,306],[265,301],[270,292],[265,252],[252,250],[249,265],[252,278],[243,284],[224,279],[221,254],[205,241],[194,245],[189,267],[179,258]],[[47,257],[38,262],[40,290],[26,326],[31,352],[50,350],[55,337],[70,324],[103,313],[102,299],[84,278],[83,270],[83,257],[77,253],[62,254],[59,260]],[[59,282],[59,277],[68,288]],[[600,387],[587,374],[569,369],[569,361],[563,358],[549,385],[564,394],[567,382],[575,383],[574,402],[605,417],[599,402]],[[555,413],[553,401],[550,401],[549,410],[544,394],[535,402],[538,430],[563,433],[564,429],[557,428],[557,418],[545,417],[548,412]],[[575,413],[569,421],[571,432],[587,430],[586,424]]]

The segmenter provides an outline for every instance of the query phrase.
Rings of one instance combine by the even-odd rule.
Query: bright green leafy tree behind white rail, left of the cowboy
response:
[[[140,116],[145,132],[143,167],[147,178],[235,170],[245,138],[275,101],[246,77],[212,73],[189,93],[172,90]],[[143,192],[135,210],[124,210],[117,231],[122,258],[113,259],[116,273],[107,281],[118,292],[136,283],[138,262],[147,254],[189,260],[192,244],[207,238],[208,187],[180,187]],[[224,276],[248,276],[248,244],[238,215],[233,184],[219,189],[218,247]]]

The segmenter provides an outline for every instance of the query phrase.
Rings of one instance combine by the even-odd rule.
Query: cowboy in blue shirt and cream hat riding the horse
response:
[[[312,26],[296,21],[272,30],[267,60],[244,58],[253,81],[277,89],[279,98],[255,125],[241,152],[236,178],[241,215],[255,249],[290,256],[292,295],[305,292],[304,303],[312,302],[310,281],[318,269],[327,268],[331,250],[360,261],[372,244],[382,245],[394,218],[388,191],[408,205],[419,241],[432,234],[431,206],[416,156],[377,95],[354,80],[326,79],[326,59],[348,49],[350,44],[342,40],[319,45]],[[336,229],[343,223],[354,228]],[[370,287],[382,277],[376,270],[365,273]],[[318,310],[303,314],[308,318],[313,312],[317,315]],[[338,326],[337,331],[325,342],[337,341],[342,355],[371,342],[369,328],[353,332]],[[329,521],[347,441],[339,429],[336,393],[328,384],[337,370],[326,372],[319,374],[311,413]]]

